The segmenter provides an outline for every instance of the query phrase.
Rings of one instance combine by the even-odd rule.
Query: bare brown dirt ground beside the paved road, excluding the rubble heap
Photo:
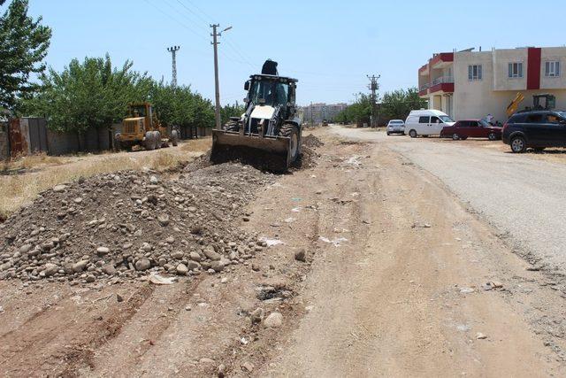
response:
[[[526,270],[444,182],[387,143],[317,133],[317,166],[279,176],[234,225],[283,243],[230,272],[165,286],[0,282],[0,371],[566,374],[555,277]],[[281,326],[253,323],[257,308],[280,312]]]

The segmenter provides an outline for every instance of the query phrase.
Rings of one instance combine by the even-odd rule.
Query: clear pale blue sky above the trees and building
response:
[[[30,12],[53,28],[47,63],[109,52],[114,65],[171,80],[180,45],[178,81],[213,98],[209,23],[233,26],[220,41],[222,102],[241,101],[243,82],[265,58],[299,79],[298,102],[350,102],[367,91],[366,74],[381,75],[380,93],[417,85],[417,69],[433,52],[517,46],[562,46],[566,2],[550,9],[532,1],[202,1],[30,0]],[[6,4],[2,7],[2,11]]]

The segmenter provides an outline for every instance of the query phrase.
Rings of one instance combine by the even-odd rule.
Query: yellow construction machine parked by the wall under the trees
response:
[[[128,105],[129,117],[122,121],[122,130],[114,135],[118,150],[129,150],[134,145],[142,145],[146,150],[173,146],[179,141],[179,130],[172,127],[171,132],[163,127],[151,104]]]

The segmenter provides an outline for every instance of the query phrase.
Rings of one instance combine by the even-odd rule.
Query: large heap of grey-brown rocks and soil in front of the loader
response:
[[[102,174],[42,192],[0,225],[0,279],[114,282],[244,263],[265,243],[243,206],[273,175],[227,163]]]

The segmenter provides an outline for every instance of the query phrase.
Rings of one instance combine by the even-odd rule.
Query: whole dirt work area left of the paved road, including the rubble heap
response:
[[[312,133],[289,174],[203,158],[13,213],[3,375],[566,373],[545,272],[386,143]]]

